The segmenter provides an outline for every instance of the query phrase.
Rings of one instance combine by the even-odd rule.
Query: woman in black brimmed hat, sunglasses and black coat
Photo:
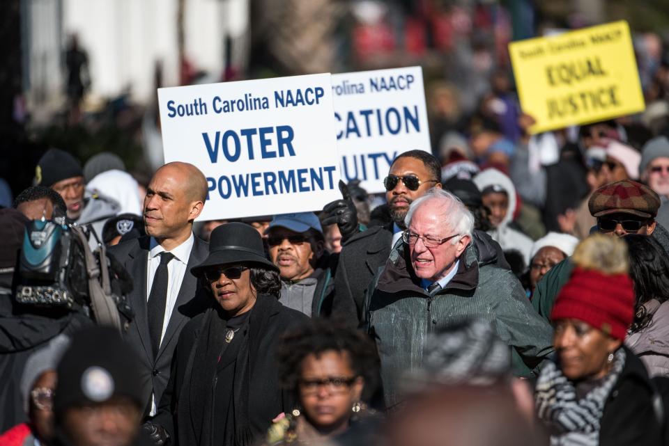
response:
[[[277,373],[284,331],[306,321],[281,305],[279,270],[245,223],[211,233],[209,256],[191,269],[213,305],[183,328],[167,389],[146,429],[160,444],[251,445],[293,408]]]

